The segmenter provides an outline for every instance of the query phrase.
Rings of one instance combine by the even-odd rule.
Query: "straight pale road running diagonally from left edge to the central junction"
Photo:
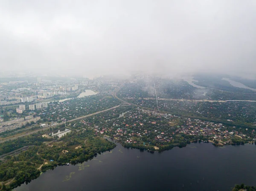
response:
[[[73,122],[73,121],[76,121],[76,120],[81,120],[81,119],[84,119],[84,118],[86,118],[86,117],[90,117],[90,116],[93,116],[93,115],[96,115],[96,114],[100,114],[100,113],[103,113],[103,112],[112,110],[112,109],[114,109],[114,108],[118,108],[119,106],[120,106],[120,105],[117,105],[117,106],[114,106],[114,107],[112,107],[112,108],[108,108],[108,109],[105,109],[105,110],[102,110],[102,111],[98,111],[98,112],[93,113],[93,114],[88,114],[88,115],[84,115],[84,116],[81,116],[81,117],[77,117],[77,118],[75,118],[75,119],[73,119],[73,120],[69,120],[69,121],[67,121],[67,122]],[[65,123],[66,123],[66,122],[65,122]],[[6,139],[6,140],[2,140],[2,141],[0,141],[0,143],[4,143],[4,142],[9,141],[9,140],[15,140],[15,139],[20,138],[20,137],[25,137],[25,136],[28,136],[28,135],[30,135],[30,134],[37,133],[38,131],[48,130],[49,128],[53,128],[53,127],[55,127],[55,126],[62,125],[62,124],[64,124],[64,122],[63,122],[63,123],[58,123],[58,124],[56,124],[56,125],[52,125],[52,126],[50,126],[50,127],[40,128],[40,129],[38,129],[38,130],[31,131],[31,132],[29,132],[29,133],[26,133],[26,134],[23,134],[23,135],[20,135],[20,136],[17,136],[17,137],[12,137],[12,138],[9,138],[9,139]]]

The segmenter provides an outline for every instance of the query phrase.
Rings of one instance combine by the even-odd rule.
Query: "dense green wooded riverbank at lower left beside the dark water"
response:
[[[39,177],[41,171],[53,169],[55,166],[67,162],[71,164],[84,162],[104,151],[110,151],[116,146],[105,139],[95,137],[92,130],[72,131],[61,137],[53,145],[42,143],[46,140],[43,137],[30,136],[4,143],[9,150],[11,145],[15,148],[19,147],[19,144],[33,144],[35,146],[31,146],[27,151],[0,163],[0,182],[7,183],[11,180],[11,183],[2,186],[2,190],[9,191],[24,182],[29,182]],[[48,164],[44,164],[40,169],[44,161],[47,161]]]

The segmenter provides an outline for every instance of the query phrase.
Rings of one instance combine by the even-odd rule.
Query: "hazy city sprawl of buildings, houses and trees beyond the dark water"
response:
[[[43,172],[58,165],[76,165],[92,157],[93,152],[78,153],[87,144],[98,152],[111,152],[114,143],[120,143],[150,153],[196,143],[256,145],[253,90],[237,91],[227,83],[230,91],[216,87],[213,97],[208,85],[203,90],[195,87],[200,80],[191,85],[182,78],[141,74],[118,80],[33,79],[1,83],[1,168],[12,170],[12,162],[21,161],[38,163],[29,168]],[[250,100],[232,99],[232,91]],[[18,183],[10,181],[13,177],[8,171],[2,171],[3,184],[15,188]]]

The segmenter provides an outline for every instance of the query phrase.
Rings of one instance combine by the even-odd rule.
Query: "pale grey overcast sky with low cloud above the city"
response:
[[[0,0],[0,70],[256,74],[255,0]]]

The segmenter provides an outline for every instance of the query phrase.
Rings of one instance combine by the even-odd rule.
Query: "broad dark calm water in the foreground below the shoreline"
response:
[[[59,166],[15,190],[231,191],[235,184],[256,185],[256,145],[218,148],[192,143],[151,154],[118,144],[112,153],[95,159],[84,162],[84,167]]]

